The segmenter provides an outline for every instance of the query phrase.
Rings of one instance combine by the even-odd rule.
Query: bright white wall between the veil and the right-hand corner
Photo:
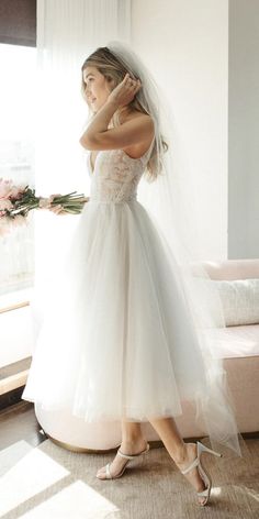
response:
[[[203,257],[226,258],[228,2],[133,0],[132,41],[184,134]]]

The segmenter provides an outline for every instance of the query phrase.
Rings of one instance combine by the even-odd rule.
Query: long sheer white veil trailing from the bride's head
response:
[[[202,352],[204,380],[202,389],[193,395],[195,420],[206,431],[213,449],[218,449],[221,444],[243,455],[245,442],[238,431],[226,372],[223,361],[215,355],[218,334],[225,328],[223,307],[216,284],[207,275],[201,258],[199,229],[193,218],[195,200],[187,199],[183,195],[183,169],[185,170],[187,164],[170,104],[150,71],[128,44],[112,41],[106,47],[122,62],[132,77],[140,79],[142,88],[136,98],[155,123],[154,153],[149,161],[155,170],[161,173],[155,181],[149,183],[145,172],[138,200],[148,210],[165,240],[168,257],[173,272],[177,270],[190,321]],[[166,152],[162,141],[168,144]]]

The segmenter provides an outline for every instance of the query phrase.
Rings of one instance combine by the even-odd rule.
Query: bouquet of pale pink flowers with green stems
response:
[[[78,214],[89,197],[76,191],[67,195],[52,195],[48,198],[36,197],[35,189],[27,185],[13,185],[12,180],[0,178],[0,235],[7,234],[13,227],[26,223],[32,209],[61,209],[61,213]]]

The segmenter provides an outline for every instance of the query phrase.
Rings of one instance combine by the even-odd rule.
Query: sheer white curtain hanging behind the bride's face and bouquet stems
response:
[[[130,35],[131,0],[37,0],[37,195],[75,190],[89,195],[86,152],[79,144],[88,115],[80,68],[98,46],[110,40],[130,41]],[[37,305],[47,303],[46,281],[78,218],[44,210],[35,214]]]

